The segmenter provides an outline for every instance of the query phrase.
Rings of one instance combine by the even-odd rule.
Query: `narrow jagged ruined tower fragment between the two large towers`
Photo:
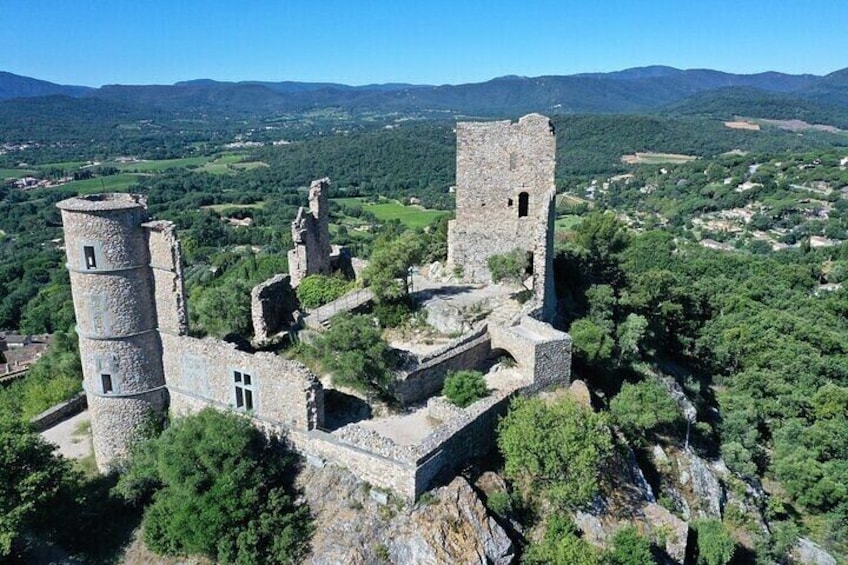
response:
[[[288,255],[292,287],[309,275],[330,274],[329,189],[328,178],[312,181],[309,210],[301,207],[292,222],[294,249]]]

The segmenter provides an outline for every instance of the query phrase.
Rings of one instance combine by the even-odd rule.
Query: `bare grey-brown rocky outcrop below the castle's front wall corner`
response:
[[[416,505],[385,493],[372,496],[374,489],[369,485],[332,466],[305,467],[298,486],[318,526],[306,563],[507,565],[514,561],[512,541],[462,477]]]

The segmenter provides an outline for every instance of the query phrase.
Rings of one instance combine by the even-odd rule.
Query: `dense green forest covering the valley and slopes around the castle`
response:
[[[782,100],[751,102],[747,115],[774,117]],[[13,102],[0,104],[0,124],[5,123],[2,112],[20,112]],[[646,451],[652,444],[680,448],[686,442],[705,458],[723,458],[740,484],[763,493],[761,510],[771,536],[741,519],[718,524],[753,540],[745,555],[764,563],[776,560],[785,553],[786,540],[806,535],[844,556],[848,297],[839,283],[848,280],[843,193],[848,137],[799,135],[768,125],[759,131],[730,129],[718,119],[727,114],[725,107],[702,102],[676,108],[676,116],[553,119],[563,222],[557,231],[556,283],[561,325],[574,339],[575,372],[596,392],[601,415],[592,422],[597,429],[609,426],[623,434],[648,471],[653,464]],[[405,241],[400,222],[378,218],[384,210],[379,206],[402,209],[414,198],[428,209],[422,217],[423,212],[432,216],[407,225],[418,235],[404,237],[422,237],[426,228],[432,247],[424,253],[427,259],[444,253],[448,216],[437,211],[449,215],[453,208],[453,122],[357,120],[344,113],[341,119],[312,110],[291,119],[180,121],[172,115],[144,118],[120,101],[92,99],[69,122],[68,137],[58,139],[55,129],[43,127],[67,112],[62,100],[57,103],[45,102],[43,115],[14,138],[34,146],[15,146],[0,155],[3,176],[10,179],[0,183],[0,328],[56,335],[55,347],[26,379],[30,384],[0,391],[0,407],[17,416],[29,417],[78,390],[55,203],[97,191],[120,175],[131,177],[119,190],[147,195],[151,213],[178,226],[198,334],[247,333],[249,289],[287,269],[290,222],[316,178],[329,176],[331,194],[340,198],[331,204],[334,243],[350,245],[365,257],[381,233],[384,241]],[[815,112],[821,108],[808,110],[805,117],[819,121]],[[99,118],[88,119],[94,116]],[[272,144],[283,138],[285,143]],[[245,140],[264,145],[226,147]],[[622,162],[623,155],[637,152],[696,159]],[[116,160],[125,155],[144,160]],[[178,161],[150,161],[166,158]],[[81,168],[88,161],[100,165]],[[80,180],[23,189],[15,184],[22,171]],[[719,217],[734,210],[744,210],[747,219]],[[235,221],[245,218],[252,223]],[[434,223],[425,226],[429,219]],[[724,225],[731,220],[736,223]],[[828,246],[812,246],[813,237],[828,238]],[[728,249],[699,245],[708,239],[727,243]],[[791,247],[775,250],[782,246]],[[823,290],[823,283],[831,286]],[[694,403],[697,415],[689,436],[679,407],[658,386],[660,379],[676,381]],[[581,419],[567,406],[550,413],[536,405],[515,409],[551,425],[571,426]],[[589,442],[598,461],[615,441],[606,433]],[[506,432],[504,437],[504,451],[521,444],[508,440]],[[579,482],[586,488],[575,498],[582,502],[591,498],[594,484],[593,469],[584,471]],[[521,484],[530,490],[541,484],[518,471],[507,475],[516,491]],[[653,486],[670,511],[681,511],[668,496],[663,499],[662,481]],[[552,497],[569,498],[563,492],[570,493],[570,487],[548,487]],[[532,502],[532,496],[526,498]],[[505,504],[513,502],[520,501]],[[583,551],[586,544],[561,518],[548,519],[549,531],[568,540],[568,551]],[[713,527],[706,523],[703,531]],[[541,540],[528,559],[544,562],[563,549],[558,543]]]

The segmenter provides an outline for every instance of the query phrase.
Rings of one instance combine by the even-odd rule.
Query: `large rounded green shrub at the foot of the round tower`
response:
[[[292,462],[249,420],[206,409],[140,444],[116,490],[132,502],[152,500],[143,533],[156,553],[292,563],[312,531],[286,479]]]

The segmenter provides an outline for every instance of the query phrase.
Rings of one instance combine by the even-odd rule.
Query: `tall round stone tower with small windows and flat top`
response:
[[[131,194],[80,196],[57,207],[94,456],[105,471],[167,405],[150,253],[141,226],[147,207]]]

